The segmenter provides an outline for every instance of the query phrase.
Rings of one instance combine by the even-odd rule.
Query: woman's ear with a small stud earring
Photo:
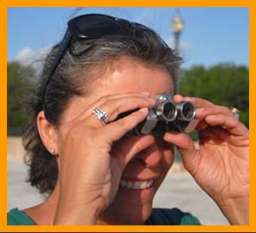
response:
[[[38,113],[36,123],[43,145],[47,148],[50,154],[57,155],[57,132],[54,125],[48,122],[43,110]]]

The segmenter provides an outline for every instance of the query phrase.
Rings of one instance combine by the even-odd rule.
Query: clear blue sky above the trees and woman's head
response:
[[[179,8],[184,67],[234,62],[248,66],[248,8]],[[170,45],[176,8],[83,8],[78,14],[104,13],[141,22]],[[60,41],[74,8],[8,8],[8,60],[38,59]]]

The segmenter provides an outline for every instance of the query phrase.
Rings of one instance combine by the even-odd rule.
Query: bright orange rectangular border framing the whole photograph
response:
[[[249,47],[250,52],[254,51],[255,43],[252,41],[256,41],[255,34],[256,31],[253,31],[253,25],[255,25],[256,18],[256,7],[253,4],[253,1],[244,0],[211,0],[211,1],[203,1],[203,0],[180,0],[179,2],[174,2],[170,0],[158,0],[156,1],[145,1],[142,0],[140,2],[135,0],[98,0],[88,3],[82,0],[73,0],[72,3],[64,2],[60,0],[2,0],[0,2],[0,23],[1,29],[3,32],[0,36],[0,71],[2,74],[2,79],[0,79],[0,104],[1,104],[1,112],[0,114],[0,143],[1,143],[1,154],[0,156],[0,184],[2,184],[1,192],[0,192],[0,232],[170,232],[170,231],[192,231],[192,232],[213,232],[213,231],[221,231],[221,232],[245,232],[245,231],[256,231],[256,221],[253,221],[253,216],[255,215],[255,156],[250,157],[250,224],[247,226],[7,226],[6,225],[6,210],[7,210],[7,8],[8,7],[78,7],[78,6],[90,6],[90,7],[248,7],[249,8]],[[255,26],[254,26],[255,27]],[[249,64],[253,64],[255,60],[255,55],[250,53],[249,55]],[[253,116],[253,98],[255,98],[255,91],[253,93],[253,85],[255,83],[255,79],[252,77],[255,73],[255,68],[250,66],[250,119]],[[254,110],[255,111],[255,110]],[[255,123],[250,121],[250,131],[253,132]],[[256,136],[255,136],[256,137]],[[253,142],[253,134],[250,133],[251,142]],[[250,154],[255,154],[255,147],[251,144]],[[254,168],[254,169],[253,169]],[[254,223],[253,223],[254,222]]]

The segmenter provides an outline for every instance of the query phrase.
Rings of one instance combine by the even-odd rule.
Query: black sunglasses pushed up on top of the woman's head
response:
[[[77,16],[67,22],[67,31],[61,41],[60,48],[55,55],[54,62],[48,71],[45,83],[42,86],[42,101],[44,102],[46,87],[53,76],[63,55],[67,51],[73,37],[80,40],[99,39],[106,35],[135,35],[136,30],[150,30],[138,22],[129,22],[102,14],[88,14]]]

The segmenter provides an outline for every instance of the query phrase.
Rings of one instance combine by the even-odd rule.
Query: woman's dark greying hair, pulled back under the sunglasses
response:
[[[31,186],[47,195],[54,190],[58,167],[55,156],[49,154],[42,144],[37,129],[36,117],[41,110],[44,110],[49,123],[58,126],[69,100],[74,96],[85,95],[89,91],[87,84],[94,78],[99,79],[100,72],[111,66],[112,61],[118,61],[122,57],[138,60],[146,66],[166,69],[170,72],[176,92],[182,62],[175,51],[150,28],[136,31],[136,36],[109,35],[91,41],[74,38],[51,77],[42,99],[42,85],[59,47],[60,43],[49,52],[43,62],[34,94],[25,101],[29,121],[22,135],[23,146],[27,151],[25,163],[29,166],[27,180]]]

